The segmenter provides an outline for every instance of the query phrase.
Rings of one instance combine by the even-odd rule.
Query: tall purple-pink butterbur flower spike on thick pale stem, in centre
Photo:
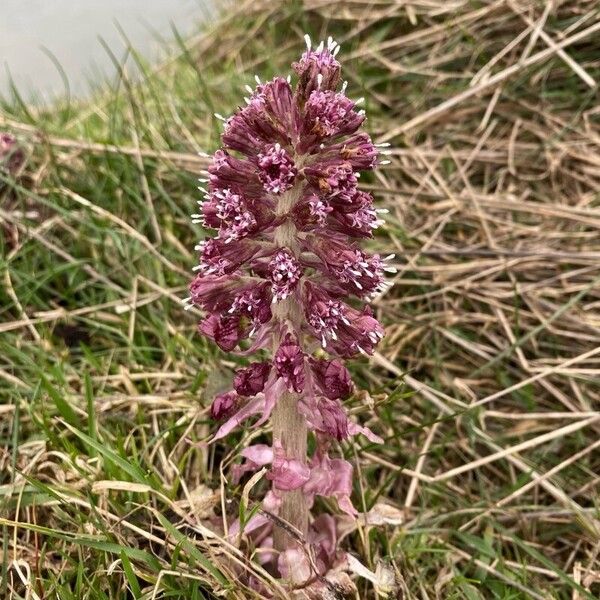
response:
[[[254,427],[270,419],[272,445],[245,448],[233,475],[239,480],[270,465],[263,507],[278,519],[273,526],[257,516],[244,532],[254,532],[262,548],[272,543],[273,570],[296,586],[339,560],[335,521],[310,516],[315,496],[335,498],[356,515],[352,466],[332,456],[334,442],[356,434],[381,441],[344,410],[353,384],[342,360],[371,354],[383,337],[362,301],[379,294],[384,271],[393,270],[386,266],[391,257],[369,255],[359,244],[384,212],[358,189],[359,172],[387,161],[359,132],[365,115],[360,101],[345,95],[339,46],[330,39],[313,50],[306,40],[293,65],[295,87],[290,77],[257,78],[246,106],[223,119],[223,147],[201,180],[205,201],[193,215],[217,234],[197,246],[188,299],[206,314],[200,331],[221,349],[268,356],[239,369],[234,389],[214,399],[212,416],[223,423],[213,439],[250,417],[258,416]]]

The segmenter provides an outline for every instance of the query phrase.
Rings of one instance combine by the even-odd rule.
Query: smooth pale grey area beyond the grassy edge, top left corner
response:
[[[155,57],[161,37],[172,39],[171,23],[189,34],[207,18],[202,0],[0,0],[0,94],[9,88],[8,72],[25,98],[51,99],[64,93],[64,83],[47,48],[69,79],[71,93],[85,95],[89,82],[115,69],[99,37],[121,59],[124,41]]]

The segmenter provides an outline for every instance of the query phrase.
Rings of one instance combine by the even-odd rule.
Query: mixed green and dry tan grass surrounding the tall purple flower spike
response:
[[[286,68],[305,30],[336,34],[393,146],[367,187],[390,209],[373,247],[399,272],[379,353],[352,365],[370,392],[351,401],[386,443],[343,450],[367,513],[345,546],[395,582],[357,597],[598,597],[600,14],[585,0],[246,3],[144,85],[77,111],[5,107],[32,148],[0,191],[7,597],[251,597],[235,564],[270,580],[207,526],[244,507],[224,482],[235,449],[199,443],[235,359],[178,298],[212,112]]]

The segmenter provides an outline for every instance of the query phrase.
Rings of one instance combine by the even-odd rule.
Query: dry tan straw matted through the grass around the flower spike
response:
[[[234,56],[237,76],[249,77],[254,70],[287,64],[307,25],[325,34],[337,31],[347,51],[343,60],[350,89],[362,87],[357,95],[367,97],[370,131],[377,141],[392,143],[391,164],[367,185],[390,209],[389,227],[373,246],[395,252],[399,271],[394,287],[376,305],[387,327],[372,361],[376,368],[355,366],[373,393],[354,405],[359,418],[368,418],[363,401],[374,406],[377,418],[370,424],[386,436],[386,444],[346,450],[356,457],[356,491],[363,496],[357,505],[384,503],[400,511],[394,514],[402,514],[403,522],[381,531],[366,519],[350,536],[349,547],[373,570],[380,559],[391,562],[398,597],[509,597],[500,595],[501,589],[519,598],[594,597],[600,590],[597,3],[307,0],[299,13],[265,1],[247,3],[232,14],[227,26],[192,44],[194,60],[209,69]],[[294,35],[282,38],[271,26]],[[275,42],[278,53],[271,62],[261,48]],[[173,73],[175,67],[167,64],[161,76],[168,80]],[[224,78],[214,75],[213,90],[219,90]],[[101,102],[91,109],[95,114],[102,110]],[[45,140],[54,160],[130,156],[139,171],[140,197],[154,215],[145,231],[138,231],[126,212],[112,214],[76,191],[61,193],[76,210],[89,209],[107,219],[150,255],[157,254],[163,216],[144,161],[159,165],[153,176],[161,180],[168,180],[173,169],[196,172],[204,159],[195,155],[190,140],[208,137],[212,129],[209,115],[198,115],[178,130],[186,141],[173,150],[156,132],[150,133],[151,147],[138,137],[133,144],[131,139],[100,144],[42,135],[14,117],[4,122],[22,135]],[[75,119],[65,130],[77,127]],[[46,167],[42,163],[39,168]],[[32,229],[19,215],[3,211],[0,216],[66,263],[78,260],[68,243],[57,245],[42,224]],[[53,227],[61,236],[69,234],[66,221]],[[161,250],[155,258],[182,274],[186,265],[174,264],[173,257],[185,255],[191,246],[173,237],[163,240],[173,252],[167,256]],[[109,270],[91,264],[84,268],[90,282],[110,287],[117,298],[34,313],[17,300],[14,318],[0,324],[0,331],[35,339],[38,327],[84,317],[106,326],[120,323],[131,342],[147,325],[136,313],[168,301],[164,318],[169,336],[191,337],[192,319],[184,320],[176,304],[183,275],[164,282],[146,273],[125,289]],[[119,360],[115,358],[117,364]],[[215,367],[215,356],[206,354],[204,360],[209,369]],[[230,363],[222,360],[220,366]],[[181,519],[179,531],[196,531],[196,537],[188,535],[188,544],[223,572],[246,564],[235,548],[211,539],[202,525],[205,509],[218,513],[226,507],[226,470],[222,465],[219,476],[217,465],[235,452],[224,457],[221,451],[215,455],[202,449],[188,460],[190,440],[202,439],[208,431],[204,409],[189,392],[193,360],[178,355],[143,367],[136,371],[125,362],[94,375],[98,418],[144,411],[151,431],[136,427],[124,447],[143,448],[147,436],[155,436],[151,449],[142,450],[150,452],[144,460],[156,469],[161,489],[171,489],[176,481],[180,486],[179,500],[162,497]],[[33,385],[8,367],[0,370],[0,378],[24,389]],[[85,415],[85,394],[76,383],[80,374],[69,372],[66,380],[74,386],[70,401]],[[205,397],[219,385],[213,377]],[[398,395],[396,390],[390,395],[398,385],[401,392],[412,393]],[[12,410],[10,405],[3,408]],[[21,418],[22,427],[31,427],[29,417]],[[176,442],[164,433],[167,418],[180,427]],[[118,539],[125,543],[133,535],[142,545],[173,550],[175,534],[156,516],[155,498],[130,506],[135,523],[116,514],[118,508],[111,512],[110,494],[127,491],[127,484],[107,482],[110,478],[99,472],[98,455],[79,464],[35,441],[22,445],[18,455],[21,471],[13,477],[13,493],[22,492],[25,475],[44,478],[43,469],[54,470],[47,479],[59,482],[63,492],[70,487],[65,492],[70,501],[76,496],[73,490],[100,478],[94,484],[103,498],[97,510]],[[9,468],[8,454],[2,464]],[[216,494],[209,490],[206,506],[194,514],[205,482],[212,482]],[[131,483],[129,493],[150,491],[135,485],[146,484]],[[16,515],[5,525],[31,524],[37,518],[31,507]],[[15,580],[17,587],[27,587],[23,581],[31,575],[23,564],[35,563],[37,534],[28,527],[17,535],[15,526],[8,541],[21,582]],[[185,545],[183,549],[192,552]],[[150,566],[138,564],[136,569],[154,581],[154,598],[173,569],[162,550],[152,551],[161,557],[159,581]],[[256,565],[247,567],[269,579]],[[213,574],[201,565],[180,574],[218,589]],[[357,597],[384,597],[383,592],[375,584],[361,584]],[[249,597],[242,590],[230,594]]]

